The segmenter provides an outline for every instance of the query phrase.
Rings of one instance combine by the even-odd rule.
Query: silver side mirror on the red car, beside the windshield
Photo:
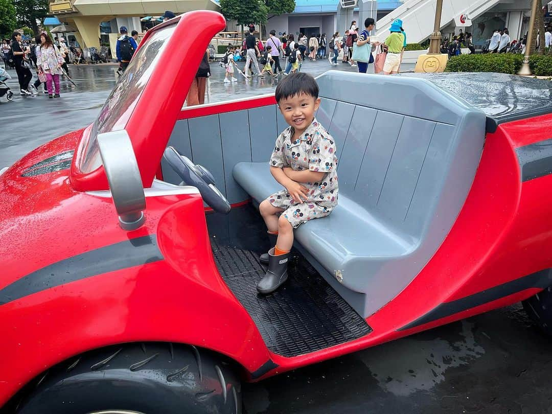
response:
[[[125,130],[98,134],[98,146],[119,225],[123,230],[139,229],[146,219],[146,197],[129,134]]]

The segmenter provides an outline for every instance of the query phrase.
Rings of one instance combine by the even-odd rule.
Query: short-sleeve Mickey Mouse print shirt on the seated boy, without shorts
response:
[[[337,156],[332,136],[314,118],[298,140],[291,142],[295,130],[286,128],[276,140],[269,164],[291,167],[295,171],[325,172],[320,182],[301,183],[309,189],[307,202],[333,208],[337,205]]]

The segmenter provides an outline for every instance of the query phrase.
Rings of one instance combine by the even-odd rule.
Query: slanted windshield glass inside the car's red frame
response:
[[[176,24],[157,30],[132,57],[129,66],[119,78],[119,82],[94,121],[92,132],[81,158],[82,162],[79,166],[81,172],[92,172],[102,164],[97,140],[98,134],[125,128],[140,95],[158,65],[167,39],[172,35],[174,29],[176,29]]]

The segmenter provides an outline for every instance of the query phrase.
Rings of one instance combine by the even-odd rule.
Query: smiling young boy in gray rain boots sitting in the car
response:
[[[285,189],[259,206],[269,235],[277,235],[276,245],[261,256],[261,262],[268,262],[268,272],[257,284],[262,294],[272,293],[288,279],[293,229],[330,214],[338,190],[336,144],[314,117],[320,105],[315,79],[294,73],[278,83],[275,95],[289,127],[278,136],[269,166]]]

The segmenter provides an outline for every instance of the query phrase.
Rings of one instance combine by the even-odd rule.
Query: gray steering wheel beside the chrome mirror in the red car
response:
[[[163,157],[174,169],[184,184],[197,187],[201,197],[217,213],[228,214],[230,203],[215,186],[215,178],[205,167],[195,165],[189,158],[180,155],[173,147],[167,147]]]

